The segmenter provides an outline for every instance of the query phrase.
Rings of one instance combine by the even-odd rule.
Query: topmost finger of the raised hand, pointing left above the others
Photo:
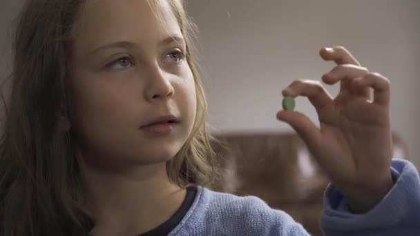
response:
[[[321,55],[325,61],[334,61],[337,65],[353,64],[360,66],[359,61],[357,61],[349,50],[345,49],[343,46],[321,48],[319,55]]]

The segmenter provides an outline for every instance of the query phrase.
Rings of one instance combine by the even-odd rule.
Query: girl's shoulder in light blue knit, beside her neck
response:
[[[287,213],[270,208],[258,197],[219,193],[202,186],[178,230],[179,235],[307,235]]]

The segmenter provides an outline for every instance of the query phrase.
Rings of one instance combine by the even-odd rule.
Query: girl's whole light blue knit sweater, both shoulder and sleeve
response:
[[[334,186],[325,191],[325,235],[420,235],[420,179],[408,161],[392,161],[395,184],[368,213],[350,213]],[[258,197],[238,197],[198,187],[193,205],[169,235],[309,235],[282,210]]]

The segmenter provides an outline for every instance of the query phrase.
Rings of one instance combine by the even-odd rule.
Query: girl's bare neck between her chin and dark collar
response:
[[[151,230],[169,219],[186,195],[184,188],[169,181],[165,163],[118,174],[86,166],[82,170],[95,236],[134,236]]]

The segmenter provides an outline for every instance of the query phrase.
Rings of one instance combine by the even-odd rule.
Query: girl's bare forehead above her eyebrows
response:
[[[75,43],[88,50],[104,41],[160,41],[182,35],[166,0],[88,0],[77,17]]]

